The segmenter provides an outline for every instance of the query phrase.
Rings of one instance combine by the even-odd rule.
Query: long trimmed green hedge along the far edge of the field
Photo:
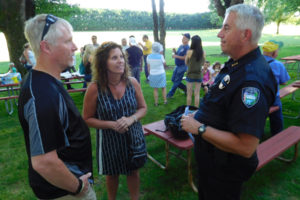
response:
[[[210,29],[219,27],[219,23],[211,23],[210,16],[212,16],[212,13],[166,13],[165,29]],[[80,12],[72,15],[69,21],[76,31],[153,30],[155,27],[152,13],[129,10],[81,9]],[[159,22],[157,23],[158,27]]]

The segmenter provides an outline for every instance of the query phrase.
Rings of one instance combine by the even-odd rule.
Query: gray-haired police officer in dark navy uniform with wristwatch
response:
[[[256,147],[277,91],[257,44],[263,26],[256,7],[238,4],[226,10],[218,37],[230,59],[195,116],[182,117],[183,129],[197,135],[201,200],[240,199],[243,182],[256,170]]]

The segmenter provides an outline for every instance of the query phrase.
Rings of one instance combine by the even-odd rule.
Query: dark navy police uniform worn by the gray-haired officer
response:
[[[277,86],[259,48],[225,63],[195,119],[219,130],[261,138]],[[255,172],[258,159],[224,152],[196,137],[199,199],[239,199],[242,183]]]

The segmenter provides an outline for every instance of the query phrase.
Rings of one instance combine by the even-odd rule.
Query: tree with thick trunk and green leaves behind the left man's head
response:
[[[78,12],[77,6],[71,6],[66,0],[0,0],[0,31],[4,33],[10,61],[14,62],[18,71],[25,73],[19,62],[26,43],[24,23],[39,13],[52,13],[68,19]]]

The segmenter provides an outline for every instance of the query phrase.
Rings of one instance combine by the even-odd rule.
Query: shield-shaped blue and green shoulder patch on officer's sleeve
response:
[[[259,100],[260,90],[255,87],[245,87],[242,89],[242,101],[247,108],[253,107]]]

